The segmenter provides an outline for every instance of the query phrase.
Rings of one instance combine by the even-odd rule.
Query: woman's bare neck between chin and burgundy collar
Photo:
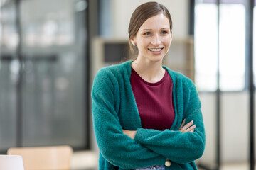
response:
[[[134,60],[132,68],[142,79],[150,83],[156,83],[164,77],[165,70],[162,67],[162,61],[151,62],[146,60]]]

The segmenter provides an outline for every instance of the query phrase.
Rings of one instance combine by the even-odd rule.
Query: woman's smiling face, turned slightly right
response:
[[[148,62],[163,60],[171,45],[169,20],[164,14],[148,18],[139,28],[131,42],[138,47],[138,58]]]

